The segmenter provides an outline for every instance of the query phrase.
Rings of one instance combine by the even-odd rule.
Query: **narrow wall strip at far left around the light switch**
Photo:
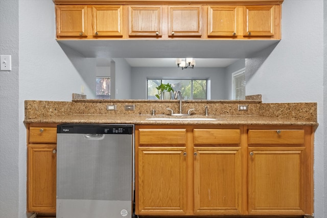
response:
[[[20,195],[26,190],[24,189],[26,177],[21,176],[18,166],[21,162],[18,127],[22,125],[18,117],[18,111],[21,110],[18,103],[18,35],[18,1],[0,0],[0,55],[11,55],[12,63],[12,71],[0,71],[0,217],[2,218],[19,217]]]

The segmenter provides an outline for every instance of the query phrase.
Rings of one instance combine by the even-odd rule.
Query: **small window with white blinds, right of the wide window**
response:
[[[245,100],[245,70],[232,74],[232,96],[233,100]]]

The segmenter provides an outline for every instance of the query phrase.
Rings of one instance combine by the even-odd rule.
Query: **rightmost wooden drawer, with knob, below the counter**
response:
[[[304,130],[249,130],[248,144],[303,144]]]

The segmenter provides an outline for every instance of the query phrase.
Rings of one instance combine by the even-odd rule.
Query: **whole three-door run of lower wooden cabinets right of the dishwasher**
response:
[[[135,212],[312,215],[313,134],[311,126],[136,125]]]

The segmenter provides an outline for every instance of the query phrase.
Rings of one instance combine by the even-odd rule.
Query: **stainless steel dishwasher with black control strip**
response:
[[[56,217],[133,217],[133,144],[133,125],[58,125]]]

